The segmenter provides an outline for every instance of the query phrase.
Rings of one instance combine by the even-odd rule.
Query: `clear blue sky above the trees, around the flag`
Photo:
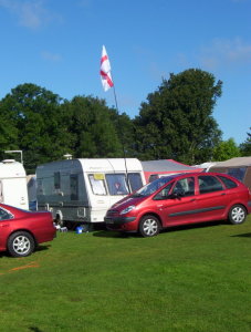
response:
[[[138,115],[161,77],[201,69],[223,82],[213,116],[240,144],[251,126],[250,14],[251,0],[0,0],[0,98],[34,83],[114,105],[100,80],[104,44],[119,112]]]

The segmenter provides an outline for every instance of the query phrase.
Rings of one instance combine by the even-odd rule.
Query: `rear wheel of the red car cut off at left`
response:
[[[12,257],[25,257],[34,251],[35,242],[27,231],[17,231],[8,239],[8,251]]]

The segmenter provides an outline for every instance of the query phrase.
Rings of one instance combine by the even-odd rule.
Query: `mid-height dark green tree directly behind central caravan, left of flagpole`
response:
[[[93,96],[75,96],[62,105],[76,157],[122,157],[123,149],[113,123],[115,111]]]

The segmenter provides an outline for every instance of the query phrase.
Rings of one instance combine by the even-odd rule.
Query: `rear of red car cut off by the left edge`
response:
[[[0,204],[0,251],[13,257],[31,255],[36,245],[52,241],[56,229],[51,212],[31,212]]]

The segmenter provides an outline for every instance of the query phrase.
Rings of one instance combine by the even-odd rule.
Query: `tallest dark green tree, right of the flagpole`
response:
[[[222,82],[201,70],[170,74],[148,94],[135,118],[140,158],[174,158],[195,164],[210,159],[221,132],[212,111]]]

